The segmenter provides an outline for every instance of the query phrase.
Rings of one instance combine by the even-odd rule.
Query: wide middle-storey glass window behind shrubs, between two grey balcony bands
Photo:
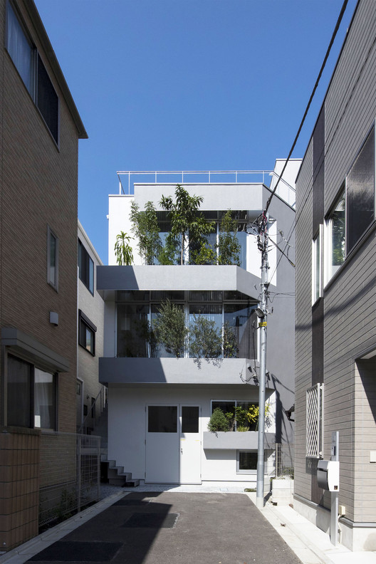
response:
[[[188,349],[192,348],[192,343],[202,343],[202,348],[208,350],[202,340],[206,335],[208,343],[213,344],[214,357],[257,357],[257,331],[254,323],[256,304],[250,303],[244,294],[222,291],[190,291],[185,294],[182,291],[118,291],[117,356],[174,356],[173,352],[167,352],[162,343],[157,343],[153,330],[155,320],[160,315],[161,304],[166,300],[184,310],[187,327],[192,335],[186,355],[189,355]],[[210,323],[200,323],[202,318]],[[214,324],[213,327],[211,324]],[[192,350],[191,354],[197,357]]]

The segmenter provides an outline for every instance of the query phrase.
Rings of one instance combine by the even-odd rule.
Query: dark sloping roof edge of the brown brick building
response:
[[[61,67],[58,63],[58,59],[56,57],[55,51],[53,51],[51,41],[49,40],[46,29],[43,26],[41,16],[39,16],[38,10],[36,9],[36,5],[34,4],[33,0],[22,0],[22,1],[23,1],[23,5],[28,11],[28,15],[30,16],[31,21],[33,22],[33,26],[36,29],[36,33],[38,34],[39,41],[41,41],[43,51],[44,53],[46,53],[46,56],[48,57],[48,62],[51,64],[51,68],[58,82],[59,88],[63,93],[64,100],[66,100],[66,105],[68,106],[68,109],[71,112],[71,115],[73,117],[73,122],[78,132],[78,138],[88,139],[88,134],[80,118],[80,114],[78,113],[78,109],[73,100],[73,96],[71,95],[71,91],[68,88],[68,84],[66,83],[66,78],[64,77],[63,71],[61,70]]]

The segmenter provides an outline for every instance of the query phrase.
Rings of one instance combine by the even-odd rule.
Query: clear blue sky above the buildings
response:
[[[286,157],[343,0],[35,0],[89,139],[78,217],[108,260],[117,170],[272,169]],[[293,157],[302,157],[346,28]]]

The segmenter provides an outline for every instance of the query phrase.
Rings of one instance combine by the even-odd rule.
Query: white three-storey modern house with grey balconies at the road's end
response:
[[[287,235],[295,221],[294,180],[300,160],[289,163],[268,214],[271,248],[268,325],[266,475],[273,470],[273,444],[293,442],[286,411],[293,405],[294,269]],[[277,161],[276,167],[281,162]],[[97,288],[105,300],[105,340],[100,382],[108,385],[108,458],[133,479],[145,483],[202,484],[256,482],[257,432],[209,432],[216,407],[234,412],[258,404],[258,318],[261,256],[252,222],[265,207],[276,174],[121,173],[120,194],[109,197],[109,263],[97,268]],[[256,182],[255,182],[256,179]],[[269,186],[266,184],[269,184]],[[157,209],[160,234],[169,229],[162,196],[174,197],[177,184],[202,196],[200,211],[216,222],[210,236],[215,249],[221,216],[231,209],[237,221],[241,266],[185,264],[145,266],[133,241],[134,265],[116,266],[117,234],[132,234],[130,207],[147,202]],[[292,241],[292,239],[291,239]],[[168,299],[184,310],[187,325],[200,315],[225,325],[236,336],[236,354],[217,358],[174,357],[153,347],[152,328]],[[223,350],[224,352],[224,350]],[[267,477],[267,476],[266,476]],[[250,484],[251,483],[251,484]]]

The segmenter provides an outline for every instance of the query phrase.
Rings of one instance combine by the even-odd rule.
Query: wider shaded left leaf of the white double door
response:
[[[179,484],[177,405],[148,405],[145,482]]]

